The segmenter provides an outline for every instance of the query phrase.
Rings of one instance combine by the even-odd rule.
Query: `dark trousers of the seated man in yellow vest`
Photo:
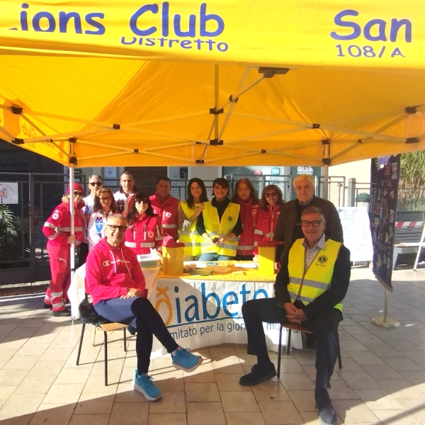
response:
[[[298,307],[298,306],[297,306]],[[300,306],[301,307],[301,306]],[[286,312],[276,298],[249,300],[242,305],[242,314],[248,334],[248,354],[268,358],[263,322],[288,323]],[[302,322],[317,340],[316,387],[330,388],[330,380],[338,358],[338,324],[342,313],[335,308],[323,310],[314,319]]]

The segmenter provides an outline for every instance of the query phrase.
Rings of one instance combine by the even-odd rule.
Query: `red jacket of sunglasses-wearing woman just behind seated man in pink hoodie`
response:
[[[161,229],[159,215],[142,215],[132,223],[125,233],[125,246],[135,251],[135,254],[150,254],[152,249],[160,249],[164,235]]]

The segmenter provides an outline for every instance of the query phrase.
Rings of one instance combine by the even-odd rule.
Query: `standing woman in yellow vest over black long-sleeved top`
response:
[[[237,237],[242,233],[240,207],[227,198],[229,182],[226,179],[215,179],[212,192],[214,198],[204,204],[196,224],[201,235],[199,260],[234,260]]]

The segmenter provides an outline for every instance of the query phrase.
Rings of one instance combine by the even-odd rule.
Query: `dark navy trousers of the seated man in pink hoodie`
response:
[[[149,370],[153,335],[169,353],[178,347],[161,316],[147,298],[101,300],[96,302],[94,310],[111,322],[130,324],[137,329],[136,354],[139,374],[147,373]]]

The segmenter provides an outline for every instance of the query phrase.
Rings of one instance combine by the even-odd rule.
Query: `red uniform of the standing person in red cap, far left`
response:
[[[84,234],[83,203],[74,208],[74,234],[76,245],[81,244]],[[47,219],[42,232],[47,237],[47,253],[50,259],[52,280],[45,296],[45,303],[52,305],[52,310],[64,310],[64,298],[71,283],[71,268],[69,266],[69,249],[67,242],[71,234],[71,214],[69,204],[62,202],[53,210]],[[65,293],[65,296],[64,296]]]

